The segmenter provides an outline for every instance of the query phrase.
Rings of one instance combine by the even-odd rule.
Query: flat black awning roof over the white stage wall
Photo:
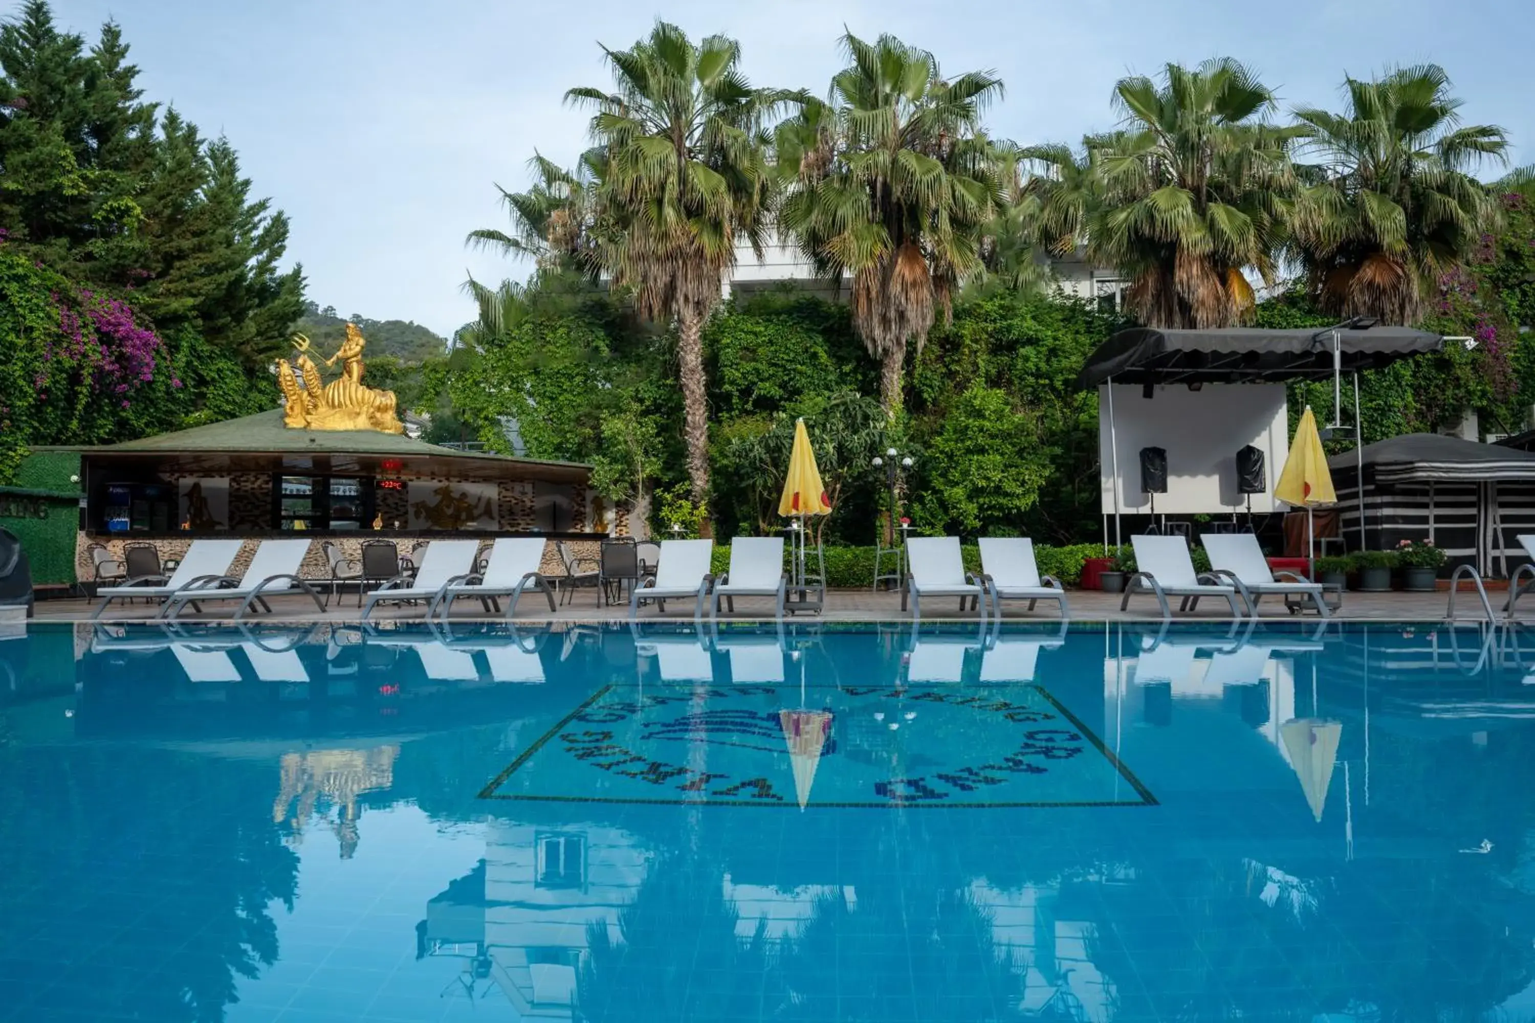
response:
[[[1269,383],[1332,376],[1332,328],[1122,330],[1098,347],[1078,376],[1084,388],[1117,383]],[[1409,327],[1337,330],[1346,373],[1438,351],[1444,339]]]

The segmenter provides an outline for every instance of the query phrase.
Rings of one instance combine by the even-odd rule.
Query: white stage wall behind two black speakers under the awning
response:
[[[1283,383],[1183,383],[1154,388],[1148,400],[1141,385],[1116,383],[1114,429],[1119,437],[1119,511],[1145,514],[1151,498],[1141,492],[1141,448],[1167,449],[1167,494],[1156,495],[1157,514],[1242,511],[1237,494],[1237,448],[1263,452],[1268,491],[1253,495],[1254,512],[1269,512],[1274,483],[1289,454]],[[1098,454],[1104,514],[1114,511],[1114,462],[1108,445],[1108,385],[1098,388]]]

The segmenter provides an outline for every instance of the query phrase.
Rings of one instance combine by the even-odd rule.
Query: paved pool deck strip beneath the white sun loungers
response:
[[[1492,601],[1494,610],[1498,617],[1503,615],[1503,606],[1507,595],[1503,592],[1492,592],[1487,595]],[[1150,594],[1137,595],[1130,600],[1130,607],[1127,610],[1119,610],[1119,594],[1104,594],[1099,590],[1068,590],[1068,600],[1071,604],[1071,620],[1074,621],[1156,621],[1160,620],[1157,610],[1156,598]],[[1443,621],[1446,618],[1446,604],[1449,594],[1446,590],[1434,594],[1405,594],[1405,592],[1389,592],[1389,594],[1345,594],[1343,606],[1334,612],[1334,618],[1345,621]],[[206,613],[192,613],[187,609],[181,615],[181,621],[209,621],[227,618],[233,613],[236,604],[224,603],[213,604]],[[751,598],[740,597],[735,601],[735,613],[726,613],[720,610],[720,620],[731,621],[751,621],[772,618],[772,601],[769,598]],[[1199,606],[1197,610],[1188,613],[1176,613],[1174,601],[1174,618],[1194,618],[1208,621],[1223,621],[1230,620],[1231,612],[1225,601],[1210,601],[1208,598]],[[115,603],[103,615],[104,621],[144,621],[155,615],[155,607],[143,603],[123,604]],[[1532,603],[1532,610],[1535,610],[1535,603]],[[38,621],[86,621],[95,612],[95,601],[84,598],[69,598],[69,600],[45,600],[37,603],[35,617]],[[425,607],[422,604],[381,604],[375,613],[373,620],[411,620],[422,618]],[[626,620],[629,613],[628,603],[603,606],[594,590],[579,589],[569,594],[569,598],[560,598],[557,609],[551,613],[548,604],[539,594],[525,594],[517,604],[517,621],[622,621]],[[708,615],[708,612],[705,612]],[[1481,603],[1477,594],[1472,590],[1461,592],[1455,600],[1457,618],[1463,620],[1484,620]],[[453,610],[454,621],[473,621],[473,620],[500,620],[503,615],[487,613],[480,609],[479,601],[460,600]],[[1002,604],[1002,620],[1004,621],[1051,621],[1055,620],[1056,607],[1053,603],[1042,601],[1036,610],[1028,612],[1024,601],[1007,601]],[[1276,621],[1291,620],[1291,615],[1285,610],[1285,604],[1279,598],[1268,598],[1259,606],[1260,618],[1271,618]],[[1315,612],[1303,612],[1305,618],[1314,620]],[[249,621],[355,621],[358,618],[356,594],[347,594],[338,601],[330,601],[330,607],[321,613],[315,609],[313,603],[304,597],[278,597],[272,600],[272,615],[250,615]],[[642,621],[683,621],[692,618],[692,601],[672,600],[666,603],[666,610],[659,612],[654,604],[648,604],[640,609]],[[901,595],[898,592],[870,592],[867,589],[840,589],[830,590],[826,600],[826,610],[821,615],[801,613],[795,620],[824,620],[824,621],[900,621],[909,620],[910,612],[901,610]],[[953,598],[929,598],[927,604],[923,607],[923,621],[975,621],[975,612],[959,613],[956,609],[956,601]]]

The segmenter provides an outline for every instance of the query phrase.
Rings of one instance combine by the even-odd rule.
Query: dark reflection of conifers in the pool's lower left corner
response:
[[[74,936],[61,956],[87,942],[94,962],[135,979],[130,989],[106,979],[54,983],[23,1015],[111,1018],[130,1006],[155,1023],[223,1020],[244,979],[278,960],[272,913],[276,903],[292,911],[298,890],[298,856],[266,819],[266,765],[135,745],[20,756],[8,770],[58,790],[43,799],[0,784],[5,876],[69,893],[48,905],[51,926]],[[129,916],[132,929],[103,929]]]

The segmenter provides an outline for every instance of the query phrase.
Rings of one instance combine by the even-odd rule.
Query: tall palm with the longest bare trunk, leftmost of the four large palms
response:
[[[677,322],[688,479],[709,497],[709,420],[701,330],[720,302],[735,242],[760,255],[771,195],[766,120],[786,94],[752,89],[735,40],[694,44],[657,21],[629,49],[603,48],[614,92],[571,89],[589,107],[605,173],[593,258],[632,290],[642,314]],[[708,523],[708,517],[705,517]]]

